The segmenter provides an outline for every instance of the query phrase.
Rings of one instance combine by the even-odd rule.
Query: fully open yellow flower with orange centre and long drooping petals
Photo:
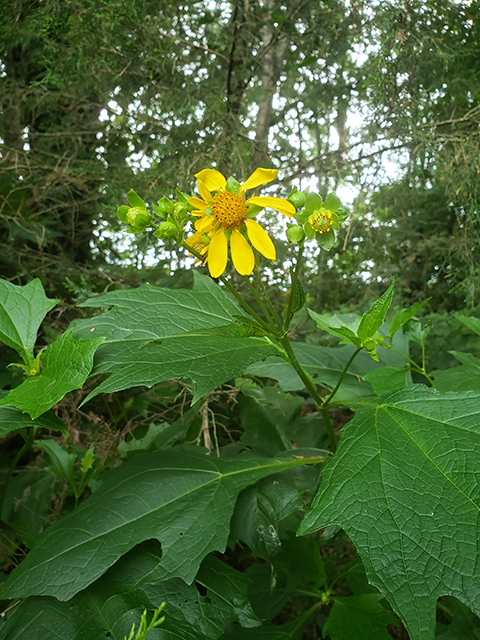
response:
[[[188,202],[194,207],[192,214],[200,218],[195,223],[196,233],[187,239],[187,244],[197,248],[201,246],[199,253],[208,254],[208,269],[213,278],[221,276],[227,267],[229,241],[235,269],[241,275],[252,273],[255,255],[241,232],[244,230],[257,251],[269,260],[275,260],[275,247],[270,237],[258,222],[247,217],[249,207],[268,207],[288,217],[295,214],[295,207],[283,198],[255,196],[245,200],[245,191],[271,182],[277,173],[276,169],[256,169],[240,185],[238,193],[226,190],[227,180],[215,169],[203,169],[195,174],[202,199],[193,197]],[[210,239],[208,245],[202,242],[205,235]]]

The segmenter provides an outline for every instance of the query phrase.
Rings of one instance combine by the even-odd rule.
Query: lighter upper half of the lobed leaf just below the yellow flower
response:
[[[155,340],[194,329],[221,327],[243,311],[235,300],[207,276],[195,272],[189,289],[163,289],[145,284],[138,289],[112,291],[83,302],[104,307],[100,315],[73,323],[75,337],[104,336],[105,344],[125,340]]]

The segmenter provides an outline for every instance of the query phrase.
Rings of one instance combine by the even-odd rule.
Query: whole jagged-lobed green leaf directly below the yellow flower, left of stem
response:
[[[192,380],[196,402],[220,384],[242,375],[278,348],[268,338],[230,335],[242,310],[210,278],[195,274],[193,290],[144,285],[114,291],[83,306],[112,306],[91,320],[75,323],[75,335],[105,337],[94,373],[110,373],[85,400],[99,393],[164,380]],[[212,335],[207,330],[215,329]]]

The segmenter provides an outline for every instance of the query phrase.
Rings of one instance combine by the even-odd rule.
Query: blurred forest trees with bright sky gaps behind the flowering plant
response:
[[[333,192],[349,211],[331,251],[307,252],[312,310],[362,314],[395,279],[394,310],[428,298],[429,370],[458,364],[450,351],[479,355],[478,336],[455,317],[478,317],[480,304],[479,42],[478,2],[8,2],[0,274],[15,285],[39,278],[60,299],[38,346],[84,317],[76,304],[93,295],[191,286],[182,248],[125,233],[116,212],[129,189],[158,202],[175,188],[193,193],[201,169],[240,180],[260,166],[279,171],[271,194]],[[278,258],[265,284],[283,299],[293,247],[278,218],[268,223]],[[303,311],[290,332],[302,342],[316,329]],[[21,372],[0,349],[9,390]],[[132,434],[140,439],[154,417],[173,423],[191,397],[177,381],[156,395],[125,391],[114,408],[97,398],[82,413],[82,393],[57,413],[71,444],[93,444],[107,466]],[[5,444],[4,474],[20,448],[15,437]],[[40,520],[71,508],[68,492],[56,492]],[[24,543],[7,531],[7,573]]]

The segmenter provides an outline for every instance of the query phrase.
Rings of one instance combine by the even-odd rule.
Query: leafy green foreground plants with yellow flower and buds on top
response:
[[[91,297],[46,348],[58,301],[0,281],[1,639],[480,638],[480,359],[429,371],[426,301],[389,312],[393,282],[295,340],[304,256],[347,213],[252,195],[276,175],[130,191],[126,231],[187,252],[192,288]],[[295,247],[275,298],[264,209]]]

